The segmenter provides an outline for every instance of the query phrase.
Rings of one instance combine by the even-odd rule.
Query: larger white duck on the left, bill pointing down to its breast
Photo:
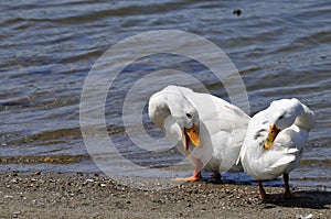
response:
[[[193,176],[177,180],[199,180],[202,168],[214,177],[228,169],[242,171],[236,161],[249,117],[239,108],[210,94],[168,86],[151,96],[148,111],[194,166]]]

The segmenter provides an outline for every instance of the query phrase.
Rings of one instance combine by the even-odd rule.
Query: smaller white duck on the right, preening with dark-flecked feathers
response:
[[[248,124],[241,151],[242,165],[257,179],[260,197],[266,196],[261,180],[282,174],[285,197],[290,197],[289,173],[299,165],[314,113],[297,99],[273,101]]]

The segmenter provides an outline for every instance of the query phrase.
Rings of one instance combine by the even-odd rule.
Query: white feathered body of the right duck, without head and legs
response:
[[[266,110],[260,111],[249,121],[239,155],[244,169],[258,179],[278,177],[296,163],[302,153],[302,141],[300,140],[302,136],[301,132],[295,129],[296,127],[281,131],[273,146],[268,150],[264,149],[269,129],[267,113]]]

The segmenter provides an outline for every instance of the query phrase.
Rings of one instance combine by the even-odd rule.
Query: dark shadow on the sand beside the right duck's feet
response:
[[[331,193],[330,191],[292,191],[291,198],[285,198],[282,194],[270,194],[261,201],[265,207],[273,208],[273,205],[281,207],[298,207],[311,209],[330,209]]]

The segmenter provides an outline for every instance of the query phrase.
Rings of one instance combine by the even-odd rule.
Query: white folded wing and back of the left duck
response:
[[[213,156],[221,161],[220,171],[228,171],[238,158],[250,118],[236,106],[209,94],[194,92],[188,99],[207,128]]]

